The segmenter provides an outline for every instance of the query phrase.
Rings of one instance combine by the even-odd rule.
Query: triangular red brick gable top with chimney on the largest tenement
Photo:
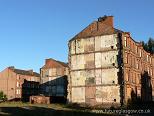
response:
[[[110,18],[110,19],[109,19]],[[80,39],[80,38],[87,38],[87,37],[94,37],[94,36],[100,36],[100,35],[109,35],[114,33],[121,33],[123,31],[115,29],[112,25],[113,19],[111,17],[102,17],[103,20],[98,20],[92,22],[90,25],[88,25],[85,29],[83,29],[80,33],[78,33],[76,36],[74,36],[70,41],[74,39]],[[106,23],[106,20],[109,21]]]

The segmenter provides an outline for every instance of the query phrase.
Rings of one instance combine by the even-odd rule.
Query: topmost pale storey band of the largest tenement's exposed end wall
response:
[[[104,51],[117,49],[117,34],[103,35],[90,38],[80,38],[70,42],[71,55],[87,53],[92,51]]]

